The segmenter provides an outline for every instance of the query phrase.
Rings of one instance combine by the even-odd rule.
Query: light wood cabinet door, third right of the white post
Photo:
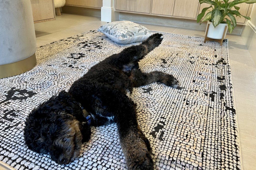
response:
[[[196,18],[198,0],[175,0],[173,16]]]

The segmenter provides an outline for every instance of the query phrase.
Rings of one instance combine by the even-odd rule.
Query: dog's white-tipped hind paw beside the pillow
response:
[[[145,45],[148,49],[148,52],[152,51],[154,48],[158,47],[163,40],[163,34],[153,34],[147,38],[147,40],[142,42],[142,45]]]

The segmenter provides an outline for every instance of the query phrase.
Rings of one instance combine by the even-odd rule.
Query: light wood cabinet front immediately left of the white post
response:
[[[91,8],[101,8],[102,0],[66,0],[68,6],[81,6]]]

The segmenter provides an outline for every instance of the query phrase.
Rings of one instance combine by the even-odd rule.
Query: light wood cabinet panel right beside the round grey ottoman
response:
[[[34,23],[55,20],[54,0],[30,0]]]

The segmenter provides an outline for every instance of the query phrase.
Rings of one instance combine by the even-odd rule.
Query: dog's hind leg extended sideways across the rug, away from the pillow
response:
[[[179,82],[173,75],[161,71],[144,73],[140,69],[133,69],[129,78],[132,81],[133,87],[144,86],[154,82],[160,82],[173,88],[177,88],[179,85]]]

